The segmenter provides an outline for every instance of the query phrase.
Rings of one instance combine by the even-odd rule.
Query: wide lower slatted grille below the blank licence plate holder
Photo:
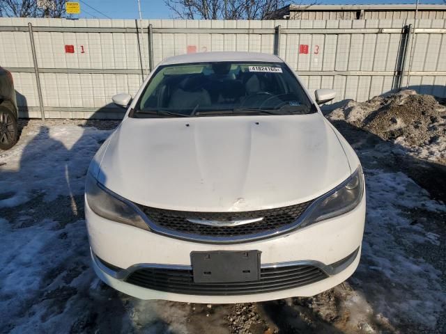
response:
[[[291,289],[328,277],[318,267],[304,265],[262,268],[260,276],[260,280],[255,282],[194,283],[192,269],[144,268],[133,271],[125,281],[139,287],[176,294],[233,296]]]

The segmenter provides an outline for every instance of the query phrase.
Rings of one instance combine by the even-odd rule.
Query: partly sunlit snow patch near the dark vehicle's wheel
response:
[[[86,168],[109,131],[93,127],[49,129],[42,126],[29,136],[32,136],[31,141],[19,143],[0,155],[0,159],[6,161],[6,165],[0,167],[3,175],[0,189],[2,193],[11,193],[0,199],[0,208],[20,205],[36,193],[43,193],[47,201],[57,196],[82,194]]]

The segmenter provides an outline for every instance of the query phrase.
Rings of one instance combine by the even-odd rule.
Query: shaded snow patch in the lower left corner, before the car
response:
[[[1,219],[0,233],[0,332],[69,333],[75,304],[84,304],[82,291],[93,280],[84,221],[60,228],[44,220],[14,230]]]

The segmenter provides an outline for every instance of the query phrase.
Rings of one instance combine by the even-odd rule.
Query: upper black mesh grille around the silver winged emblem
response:
[[[273,233],[276,230],[291,227],[311,203],[312,201],[309,201],[289,207],[247,212],[186,212],[154,207],[141,207],[141,209],[152,223],[172,232],[215,237],[216,239],[222,237],[247,237],[249,239],[249,236],[253,234]],[[259,217],[263,217],[263,220],[238,226],[210,226],[187,221],[187,218],[233,221]]]

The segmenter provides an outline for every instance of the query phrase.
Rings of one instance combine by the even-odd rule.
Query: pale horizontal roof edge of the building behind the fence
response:
[[[294,4],[289,5],[290,10],[302,10],[309,5]],[[312,5],[306,10],[415,10],[417,5],[415,3],[374,3],[374,4],[360,4],[360,5]],[[446,5],[443,4],[419,4],[418,10],[446,10]]]

